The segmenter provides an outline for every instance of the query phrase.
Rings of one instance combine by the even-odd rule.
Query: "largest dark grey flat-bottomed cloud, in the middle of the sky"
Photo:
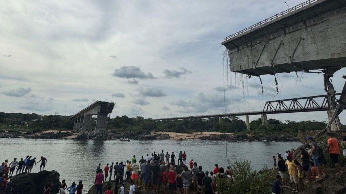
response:
[[[145,74],[143,70],[136,66],[122,66],[119,69],[114,70],[113,76],[127,79],[156,79],[151,72]]]

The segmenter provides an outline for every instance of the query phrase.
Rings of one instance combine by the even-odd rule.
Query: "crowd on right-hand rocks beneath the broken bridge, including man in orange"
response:
[[[335,165],[335,175],[342,175],[339,164],[339,141],[331,133],[326,134],[327,151],[331,162]],[[288,179],[293,185],[292,191],[304,193],[304,189],[312,184],[312,180],[323,178],[326,175],[327,161],[323,149],[318,146],[312,137],[309,136],[306,140],[309,143],[308,151],[300,147],[297,151],[294,149],[286,151],[284,157],[279,153],[277,157],[273,156],[274,169],[279,168],[279,174],[276,175],[276,179],[273,182],[273,194],[284,193],[283,188],[291,188]],[[346,137],[343,137],[341,146],[343,155],[346,157]],[[296,159],[294,159],[294,156]]]

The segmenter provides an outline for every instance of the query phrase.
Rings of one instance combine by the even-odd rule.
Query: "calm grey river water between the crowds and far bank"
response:
[[[285,150],[297,148],[299,142],[227,142],[228,159],[248,159],[255,170],[262,169],[265,165],[273,166],[273,155],[284,154]],[[46,170],[56,170],[60,173],[60,180],[65,179],[67,185],[73,181],[77,184],[83,181],[83,193],[88,192],[94,183],[94,175],[98,163],[102,168],[106,163],[130,160],[136,155],[150,155],[154,151],[164,152],[186,151],[187,161],[193,159],[203,167],[203,171],[213,169],[215,163],[219,167],[226,167],[226,142],[206,140],[131,140],[120,142],[119,140],[51,140],[51,139],[26,139],[26,138],[2,138],[0,139],[0,161],[14,157],[25,158],[31,155],[38,158],[47,158]],[[176,159],[177,162],[177,159]],[[34,166],[32,172],[39,171],[39,164]]]

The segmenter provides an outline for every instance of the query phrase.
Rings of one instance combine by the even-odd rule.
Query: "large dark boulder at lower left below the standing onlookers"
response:
[[[53,188],[51,193],[58,192],[60,174],[55,171],[40,171],[38,173],[20,173],[11,178],[13,182],[13,194],[41,194],[44,185],[51,181]]]

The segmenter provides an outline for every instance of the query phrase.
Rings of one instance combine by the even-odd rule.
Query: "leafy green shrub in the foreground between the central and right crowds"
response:
[[[227,179],[216,180],[217,192],[219,194],[238,194],[238,193],[270,193],[270,184],[274,181],[276,172],[264,168],[260,177],[251,168],[251,162],[229,161],[232,169],[233,181]]]

